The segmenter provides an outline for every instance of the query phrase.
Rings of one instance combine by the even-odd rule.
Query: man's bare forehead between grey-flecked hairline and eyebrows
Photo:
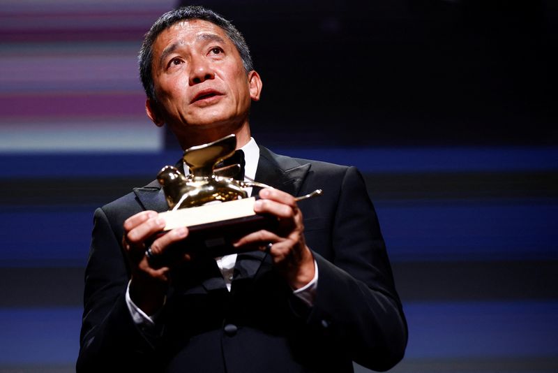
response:
[[[232,43],[225,31],[204,20],[183,20],[172,24],[163,30],[153,43],[153,52],[155,56],[162,53],[169,45],[188,45],[196,41],[204,41],[208,36],[218,36],[223,39],[224,43]]]

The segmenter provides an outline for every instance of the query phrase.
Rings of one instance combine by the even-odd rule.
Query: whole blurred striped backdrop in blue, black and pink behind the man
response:
[[[365,175],[409,322],[393,372],[558,372],[558,3],[198,3],[251,47],[256,140]],[[136,62],[178,5],[0,4],[0,372],[74,371],[93,211],[181,155]]]

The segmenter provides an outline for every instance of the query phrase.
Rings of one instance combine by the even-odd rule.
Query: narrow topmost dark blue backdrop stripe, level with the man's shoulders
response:
[[[135,117],[135,120],[148,120]],[[66,121],[69,126],[79,126],[81,122],[76,118],[73,122]],[[113,120],[113,123],[117,121]],[[123,120],[123,122],[126,122]],[[0,131],[4,124],[0,124]],[[23,128],[23,127],[22,127]],[[256,138],[257,140],[257,138]],[[356,166],[363,173],[386,173],[398,174],[408,173],[420,175],[421,173],[462,173],[462,172],[553,172],[558,170],[558,147],[322,147],[322,148],[279,148],[271,147],[273,152],[296,156],[303,159],[317,159],[338,163],[347,166]],[[114,160],[110,168],[99,169],[96,164],[102,158],[102,154],[1,154],[2,159],[8,156],[9,161],[0,162],[0,178],[5,175],[14,177],[31,177],[24,165],[33,163],[40,159],[42,169],[40,175],[73,175],[73,171],[59,170],[59,164],[72,163],[80,159],[81,163],[89,164],[93,168],[93,175],[146,175],[146,169],[142,164],[154,157],[160,159],[173,158],[172,154],[180,154],[180,149],[168,149],[160,154],[126,154],[126,152],[115,152],[111,155]],[[101,156],[101,157],[100,157]],[[120,164],[126,163],[128,159],[141,159],[132,170],[122,168]],[[17,166],[15,166],[17,165]]]

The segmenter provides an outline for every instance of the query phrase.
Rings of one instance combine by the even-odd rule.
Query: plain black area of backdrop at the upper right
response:
[[[264,81],[252,128],[266,143],[558,141],[553,1],[206,3],[252,49]]]

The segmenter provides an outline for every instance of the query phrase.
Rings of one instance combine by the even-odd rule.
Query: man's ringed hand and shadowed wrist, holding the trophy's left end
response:
[[[165,221],[155,211],[142,211],[124,221],[122,247],[130,263],[132,278],[130,298],[146,314],[154,314],[163,306],[169,286],[169,267],[154,267],[145,255],[146,241],[165,228]],[[153,255],[163,254],[170,244],[183,240],[188,228],[176,228],[154,240],[150,247]],[[190,260],[187,254],[181,258]]]

